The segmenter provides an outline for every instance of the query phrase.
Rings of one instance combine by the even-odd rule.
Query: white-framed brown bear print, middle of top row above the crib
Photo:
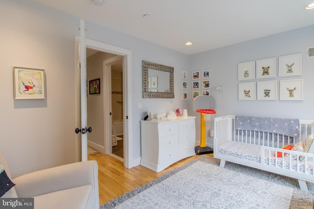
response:
[[[276,57],[256,61],[256,78],[276,77]]]

